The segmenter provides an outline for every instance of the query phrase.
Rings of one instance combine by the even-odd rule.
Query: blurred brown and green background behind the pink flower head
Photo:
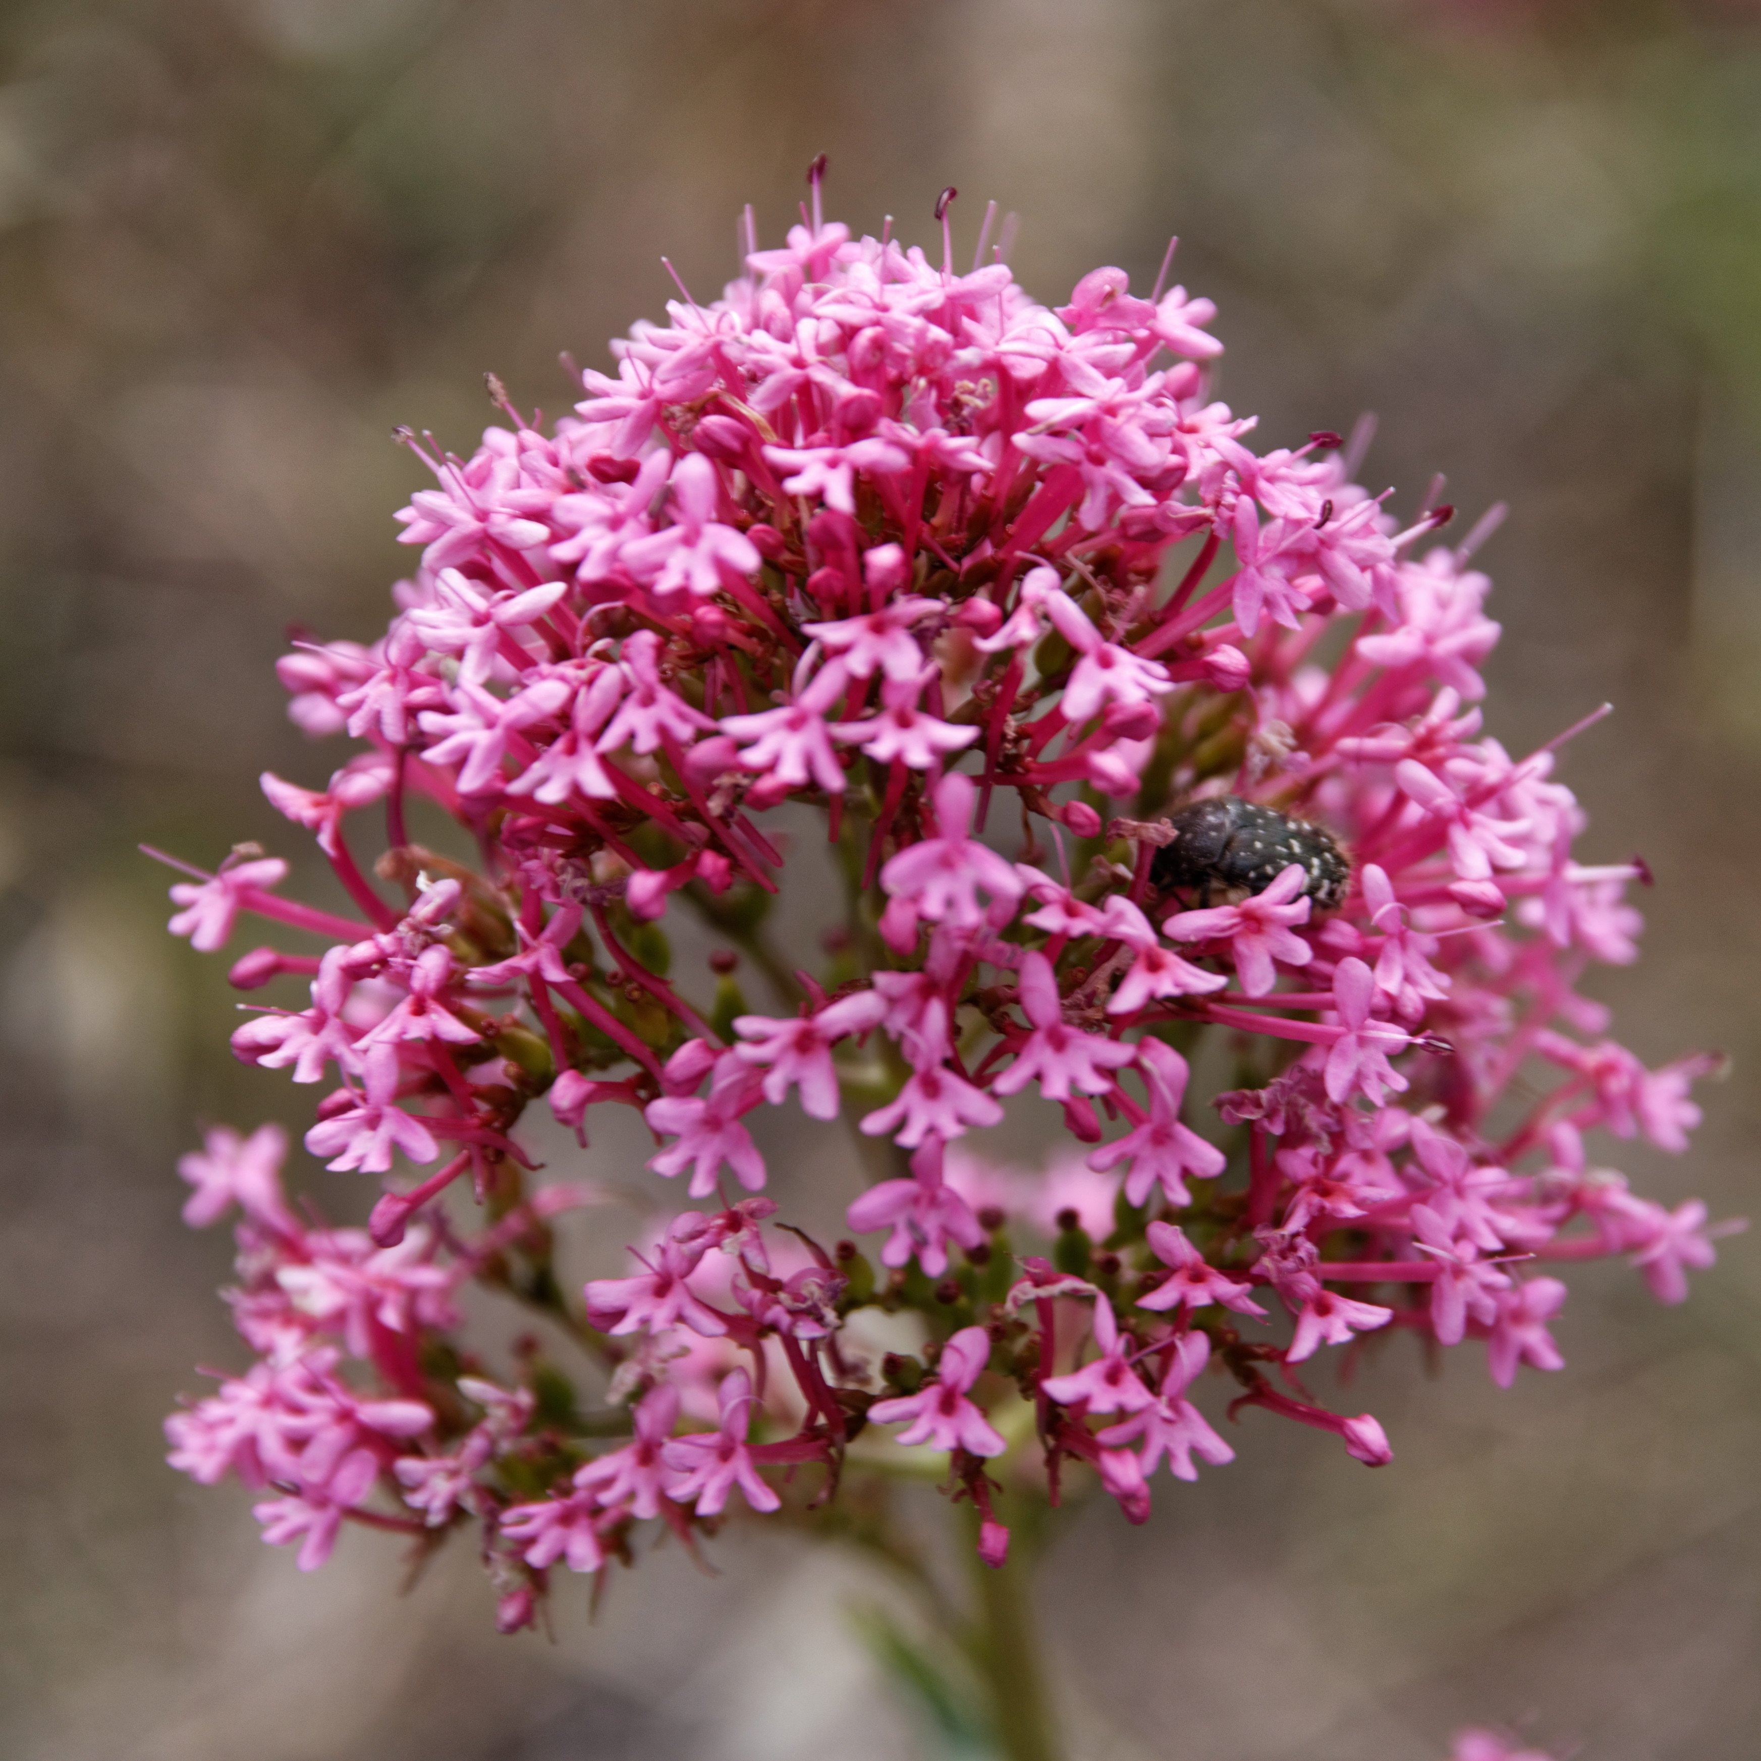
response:
[[[734,1525],[565,1585],[498,1639],[468,1557],[403,1594],[315,1576],[248,1497],[162,1465],[195,1365],[238,1368],[224,1231],[178,1220],[195,1120],[292,1118],[232,1064],[224,960],[164,935],[148,840],[296,856],[271,662],[370,639],[421,486],[493,368],[701,296],[752,201],[928,238],[958,185],[1023,217],[1057,303],[1169,232],[1220,394],[1291,444],[1375,410],[1372,488],[1472,518],[1513,752],[1603,699],[1564,775],[1588,859],[1641,851],[1647,956],[1597,995],[1648,1062],[1722,1046],[1669,1203],[1756,1208],[1761,1127],[1761,12],[1620,0],[11,0],[0,11],[0,1750],[19,1761],[845,1761],[928,1752],[863,1650],[859,1564]],[[238,942],[239,949],[250,946]],[[1606,1150],[1606,1146],[1604,1146]],[[1625,1152],[1625,1146],[1622,1146]],[[597,1150],[601,1164],[616,1146]],[[808,1169],[807,1173],[814,1173]],[[836,1169],[833,1185],[854,1180]],[[805,1180],[803,1180],[805,1183]],[[821,1197],[835,1219],[835,1201]],[[361,1220],[363,1183],[333,1189]],[[835,1222],[833,1222],[835,1227]],[[1752,1757],[1761,1259],[1680,1310],[1576,1277],[1562,1375],[1474,1349],[1358,1381],[1368,1474],[1256,1414],[1240,1460],[1085,1511],[1041,1583],[1081,1757],[1425,1761],[1467,1720],[1587,1761]],[[1747,1735],[1745,1735],[1747,1733]]]

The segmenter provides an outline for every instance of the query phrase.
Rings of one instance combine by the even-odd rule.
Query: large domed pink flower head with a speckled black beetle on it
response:
[[[657,1525],[925,1472],[1000,1564],[1028,1499],[1143,1522],[1250,1435],[1226,1411],[1388,1462],[1310,1391],[1323,1351],[1472,1340],[1507,1386],[1560,1367],[1566,1263],[1664,1301],[1712,1263],[1699,1203],[1587,1150],[1682,1150],[1713,1060],[1647,1069],[1574,988],[1634,958],[1648,877],[1574,858],[1558,741],[1481,733],[1488,523],[1448,548],[1435,491],[1402,521],[1337,435],[1252,451],[1210,301],[1095,269],[1048,310],[998,255],[852,239],[815,181],[572,417],[491,382],[468,460],[405,437],[435,488],[389,630],[280,664],[308,734],[361,743],[324,789],[264,777],[357,916],[241,847],[171,926],[317,937],[238,960],[299,993],[232,1048],[319,1087],[310,1155],[389,1178],[329,1227],[278,1127],[185,1159],[190,1222],[241,1212],[257,1361],[167,1428],[301,1566],[343,1522],[472,1527],[511,1631]],[[812,972],[766,923],[803,810],[847,902]],[[682,910],[701,974],[669,972]],[[1018,1095],[1062,1109],[1041,1169],[969,1136]],[[627,1277],[560,1278],[606,1194],[534,1178],[535,1102],[583,1145],[606,1109],[652,1131]],[[773,1217],[748,1118],[784,1106],[866,1145],[845,1240]],[[579,1367],[474,1354],[470,1282]]]

